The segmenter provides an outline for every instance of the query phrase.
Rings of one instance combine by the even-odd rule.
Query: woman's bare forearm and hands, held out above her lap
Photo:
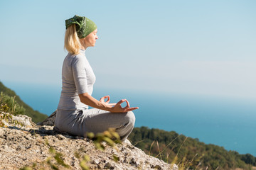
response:
[[[108,103],[110,101],[110,96],[105,96],[98,101],[97,99],[90,96],[88,93],[79,94],[80,101],[82,103],[85,103],[88,106],[91,106],[93,108],[99,108],[105,111],[110,111],[112,113],[124,113],[128,111],[134,111],[135,109],[138,109],[138,107],[130,108],[129,102],[127,99],[122,99],[118,103]],[[104,98],[108,98],[107,102],[104,101]],[[122,108],[121,103],[126,102],[127,106]]]

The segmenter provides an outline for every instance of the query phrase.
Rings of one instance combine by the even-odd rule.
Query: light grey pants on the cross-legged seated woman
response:
[[[57,110],[55,127],[70,135],[86,137],[87,132],[104,132],[114,128],[122,141],[132,132],[135,116],[132,111],[127,113],[110,113],[97,108],[80,111]]]

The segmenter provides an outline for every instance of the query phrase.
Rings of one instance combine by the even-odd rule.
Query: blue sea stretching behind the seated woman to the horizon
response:
[[[13,82],[4,84],[41,113],[50,115],[58,106],[60,86]],[[127,98],[131,106],[139,106],[134,111],[136,127],[174,130],[188,137],[198,138],[206,144],[219,145],[240,154],[250,153],[256,157],[255,101],[97,87],[92,96],[100,99],[105,95],[110,95],[113,103]]]

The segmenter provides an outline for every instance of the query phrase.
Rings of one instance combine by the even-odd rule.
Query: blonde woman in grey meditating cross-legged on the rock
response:
[[[110,96],[93,98],[95,74],[85,57],[87,47],[95,46],[97,26],[93,21],[74,16],[65,21],[65,49],[68,55],[63,62],[63,87],[55,118],[55,129],[70,135],[86,136],[87,132],[104,132],[114,128],[122,141],[132,132],[135,123],[129,102],[122,99],[110,103]],[[107,98],[107,101],[105,99]],[[122,108],[121,103],[127,106]],[[93,107],[88,109],[88,106]]]

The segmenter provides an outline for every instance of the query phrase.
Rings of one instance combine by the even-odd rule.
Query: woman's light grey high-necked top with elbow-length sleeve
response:
[[[85,57],[85,50],[80,50],[79,55],[68,53],[63,62],[63,86],[58,109],[80,110],[88,108],[80,101],[78,94],[88,93],[92,95],[95,80],[92,67]]]

